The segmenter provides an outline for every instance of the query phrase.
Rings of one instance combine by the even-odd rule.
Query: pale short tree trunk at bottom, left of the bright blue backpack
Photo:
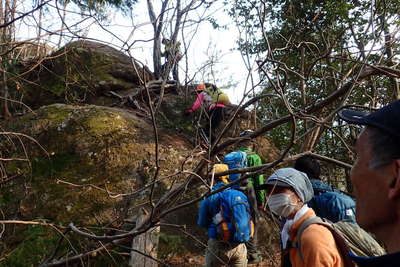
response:
[[[147,217],[147,212],[144,209],[139,210],[138,217],[136,219],[136,225],[140,225]],[[137,251],[140,251],[153,258],[157,258],[157,247],[158,247],[158,234],[160,227],[154,227],[149,229],[146,233],[136,236],[132,240],[132,251],[129,266],[131,267],[157,267],[157,262],[149,257],[146,257]]]

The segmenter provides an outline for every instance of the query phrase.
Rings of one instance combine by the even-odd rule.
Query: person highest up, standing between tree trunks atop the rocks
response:
[[[172,69],[172,78],[179,83],[179,72],[178,72],[178,62],[182,59],[182,54],[180,51],[180,46],[181,43],[178,42],[173,42],[170,39],[163,38],[161,41],[162,44],[164,45],[164,53],[161,53],[162,57],[165,57],[165,63],[162,67],[163,72],[167,68],[167,66],[170,66]],[[169,73],[167,74],[169,76]]]

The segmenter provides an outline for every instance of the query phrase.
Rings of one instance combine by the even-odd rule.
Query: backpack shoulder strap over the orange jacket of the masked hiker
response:
[[[301,251],[301,235],[303,234],[304,230],[310,226],[311,224],[319,224],[323,225],[326,228],[329,229],[329,231],[332,233],[332,236],[335,240],[336,246],[339,250],[339,253],[342,255],[343,263],[345,267],[353,267],[355,266],[354,263],[351,261],[351,259],[348,257],[350,253],[350,248],[346,244],[345,239],[338,233],[336,230],[332,227],[332,225],[323,219],[321,219],[318,216],[312,216],[310,218],[307,218],[299,227],[296,235],[296,240],[297,242],[293,244],[293,247],[295,247],[298,250],[298,253],[300,255],[301,260],[304,261],[304,256]]]

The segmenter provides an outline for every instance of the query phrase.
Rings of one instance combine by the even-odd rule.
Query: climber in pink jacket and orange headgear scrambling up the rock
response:
[[[196,100],[192,107],[185,111],[185,114],[190,115],[198,108],[204,107],[209,115],[209,121],[203,127],[203,130],[211,144],[215,139],[215,130],[223,119],[225,105],[230,103],[229,97],[215,85],[210,85],[210,88],[207,89],[204,84],[198,84],[196,86],[196,93]]]

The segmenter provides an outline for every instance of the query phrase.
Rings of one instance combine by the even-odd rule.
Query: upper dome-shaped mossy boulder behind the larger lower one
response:
[[[40,64],[20,70],[18,84],[23,101],[38,108],[52,103],[110,105],[109,91],[135,92],[141,80],[153,79],[147,67],[110,46],[76,41],[54,52]]]

